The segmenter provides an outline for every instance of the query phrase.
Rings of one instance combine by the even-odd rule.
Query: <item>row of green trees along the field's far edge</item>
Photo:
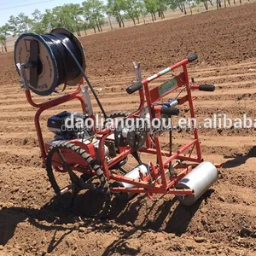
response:
[[[25,32],[35,32],[44,34],[55,27],[66,27],[71,32],[77,32],[81,36],[85,35],[89,29],[102,32],[105,23],[113,29],[112,18],[119,27],[125,27],[125,20],[131,19],[136,26],[140,22],[146,23],[145,16],[151,15],[154,22],[165,19],[167,9],[179,9],[184,15],[188,10],[192,15],[192,9],[198,4],[203,3],[206,10],[209,4],[213,5],[213,0],[108,0],[105,5],[101,0],[86,0],[82,4],[64,4],[56,6],[54,9],[46,9],[44,14],[36,9],[31,17],[20,13],[20,15],[9,17],[9,21],[4,26],[0,26],[0,41],[2,52],[7,52],[6,41],[9,35],[19,36]],[[214,0],[217,9],[230,5],[230,0]],[[249,0],[247,0],[249,1]],[[241,3],[241,0],[239,0]],[[236,4],[236,0],[233,0]]]

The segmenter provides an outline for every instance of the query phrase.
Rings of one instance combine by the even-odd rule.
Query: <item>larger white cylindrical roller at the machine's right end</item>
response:
[[[177,195],[177,200],[185,206],[191,206],[218,180],[218,170],[210,162],[202,162],[181,179],[176,189],[193,189],[194,195]]]

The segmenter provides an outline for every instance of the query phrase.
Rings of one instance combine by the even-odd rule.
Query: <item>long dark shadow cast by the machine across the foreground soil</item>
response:
[[[119,247],[124,240],[135,234],[137,230],[141,230],[141,235],[147,232],[147,230],[164,230],[177,236],[183,234],[187,230],[195,212],[201,206],[201,202],[211,196],[213,191],[212,189],[207,190],[207,193],[200,200],[196,201],[192,207],[184,207],[178,204],[176,199],[161,201],[163,196],[150,203],[145,195],[137,195],[132,201],[128,202],[113,200],[113,209],[109,214],[109,221],[86,218],[81,225],[85,227],[90,226],[91,231],[108,231],[109,225],[111,226],[113,223],[130,226],[129,229],[123,230],[123,236],[113,241],[106,248],[103,255],[109,255],[113,253],[115,247]],[[174,206],[175,204],[177,204],[177,207]],[[175,207],[173,212],[172,207]],[[9,239],[15,235],[17,225],[27,221],[40,230],[54,231],[47,250],[48,253],[51,253],[65,236],[68,236],[74,230],[79,230],[81,225],[78,225],[78,223],[80,220],[78,216],[61,207],[56,197],[40,209],[6,207],[0,210],[0,245],[6,245]],[[102,223],[100,226],[99,222]],[[73,225],[65,227],[63,224]],[[165,225],[164,229],[163,224]],[[111,227],[111,229],[115,228],[117,227]],[[63,234],[56,240],[55,235],[57,231],[63,231]]]

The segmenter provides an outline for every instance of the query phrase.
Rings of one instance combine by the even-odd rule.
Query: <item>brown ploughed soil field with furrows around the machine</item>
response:
[[[254,119],[255,12],[250,3],[81,38],[90,81],[102,88],[108,113],[135,110],[138,97],[125,92],[135,80],[132,61],[142,63],[146,77],[196,52],[190,77],[217,86],[194,93],[198,119],[213,113]],[[20,90],[13,54],[0,55],[0,70],[0,255],[255,255],[256,128],[200,131],[204,159],[224,164],[218,183],[194,206],[180,206],[172,196],[138,196],[115,205],[108,222],[83,224],[57,207],[41,168],[35,109]],[[58,111],[43,116],[46,140],[52,135],[45,121]],[[174,134],[175,147],[185,136]],[[242,227],[252,230],[249,236]]]

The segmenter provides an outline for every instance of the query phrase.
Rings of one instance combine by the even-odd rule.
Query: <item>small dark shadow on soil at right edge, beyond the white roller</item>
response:
[[[249,158],[253,158],[253,157],[256,157],[256,146],[253,146],[253,148],[251,148],[248,151],[248,153],[245,155],[235,154],[235,155],[225,156],[224,157],[225,159],[230,159],[230,160],[227,160],[225,163],[223,163],[222,167],[225,169],[229,169],[229,168],[241,166],[245,164]]]

